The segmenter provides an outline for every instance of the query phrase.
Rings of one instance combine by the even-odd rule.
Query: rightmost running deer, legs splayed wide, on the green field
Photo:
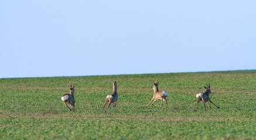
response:
[[[207,86],[207,87],[206,87]],[[198,103],[200,103],[200,101],[203,101],[203,105],[204,105],[204,111],[206,111],[206,102],[208,102],[209,104],[209,107],[211,108],[211,105],[209,103],[209,101],[214,105],[216,106],[213,101],[211,101],[209,95],[211,93],[211,89],[210,89],[210,83],[208,85],[204,86],[204,88],[206,89],[206,92],[204,93],[197,93],[196,95],[196,99],[197,99],[197,106],[196,108],[198,108]],[[218,106],[216,106],[217,108],[220,108]]]

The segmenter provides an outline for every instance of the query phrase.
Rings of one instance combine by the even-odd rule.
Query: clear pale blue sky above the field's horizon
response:
[[[0,1],[0,78],[256,69],[256,1]]]

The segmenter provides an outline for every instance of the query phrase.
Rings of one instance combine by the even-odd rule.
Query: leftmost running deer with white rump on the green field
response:
[[[62,100],[63,100],[63,102],[65,103],[65,105],[66,105],[66,107],[67,108],[69,108],[68,106],[67,106],[67,103],[68,104],[70,104],[70,106],[71,106],[71,108],[72,108],[72,111],[73,111],[73,113],[74,113],[74,84],[73,84],[73,87],[72,87],[72,84],[70,85],[69,84],[69,89],[70,89],[70,94],[65,94],[65,95],[63,95],[62,96]],[[71,111],[71,108],[69,108],[69,110]],[[75,113],[74,113],[74,115],[76,115]]]

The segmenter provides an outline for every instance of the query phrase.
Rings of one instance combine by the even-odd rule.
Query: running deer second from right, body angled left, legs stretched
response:
[[[162,101],[166,101],[166,105],[167,105],[167,97],[168,97],[168,93],[163,91],[163,92],[159,92],[158,90],[158,84],[159,82],[153,82],[153,90],[154,90],[154,94],[153,94],[153,98],[152,100],[148,103],[148,105],[153,101],[153,103],[155,103],[156,100],[161,100],[161,106],[162,105]],[[153,103],[151,105],[153,105]],[[148,107],[148,105],[146,105],[146,107]]]

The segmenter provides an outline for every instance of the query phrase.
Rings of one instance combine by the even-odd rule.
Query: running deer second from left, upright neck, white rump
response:
[[[113,104],[113,107],[115,107],[115,106],[114,106],[114,103],[115,103],[115,105],[116,105],[117,99],[118,99],[118,96],[117,96],[117,82],[113,82],[113,93],[112,93],[111,95],[108,95],[108,96],[106,97],[106,100],[105,100],[105,103],[104,103],[104,106],[103,106],[103,110],[104,110],[104,107],[105,107],[105,105],[106,105],[107,103],[109,103],[109,104],[108,104],[108,107],[110,107],[110,104],[111,104],[111,103]],[[107,109],[105,110],[105,112],[108,110],[108,107],[107,107]],[[103,112],[103,110],[102,110],[101,112]]]

